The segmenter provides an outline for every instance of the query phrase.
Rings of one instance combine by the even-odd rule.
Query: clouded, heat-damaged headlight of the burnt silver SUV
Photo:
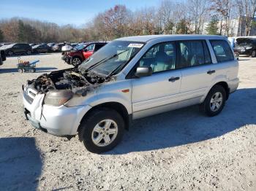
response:
[[[72,90],[50,90],[45,95],[45,104],[51,106],[61,106],[73,96]]]

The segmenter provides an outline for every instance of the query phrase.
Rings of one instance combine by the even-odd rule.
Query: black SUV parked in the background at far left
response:
[[[4,50],[6,55],[31,55],[31,46],[29,44],[23,44],[23,43],[14,43],[14,44],[7,44],[2,47],[0,47],[0,50]]]

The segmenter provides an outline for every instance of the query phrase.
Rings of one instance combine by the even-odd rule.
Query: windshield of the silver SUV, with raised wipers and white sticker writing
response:
[[[80,65],[81,71],[109,75],[120,71],[143,47],[143,42],[113,41],[94,53]],[[118,73],[116,71],[116,73]]]

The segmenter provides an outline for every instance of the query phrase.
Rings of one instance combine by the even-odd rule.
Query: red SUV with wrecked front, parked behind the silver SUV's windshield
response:
[[[97,52],[101,47],[104,47],[107,42],[88,42],[74,47],[73,50],[64,52],[62,60],[73,66],[78,66],[80,63],[89,58],[94,52]]]

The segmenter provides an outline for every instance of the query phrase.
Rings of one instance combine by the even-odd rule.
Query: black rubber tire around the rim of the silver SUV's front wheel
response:
[[[99,147],[94,144],[92,140],[94,127],[102,120],[113,120],[117,125],[117,135],[110,144]],[[101,153],[107,152],[121,141],[124,134],[124,119],[121,115],[113,109],[95,109],[85,119],[82,120],[80,128],[78,130],[78,136],[80,141],[83,141],[84,146],[89,152]],[[102,139],[103,140],[103,139]]]

